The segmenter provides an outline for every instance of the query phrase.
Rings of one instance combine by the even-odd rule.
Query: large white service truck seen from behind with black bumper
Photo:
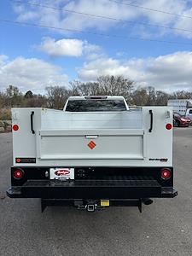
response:
[[[94,212],[171,198],[172,108],[129,109],[122,96],[69,97],[64,111],[12,108],[13,198]]]

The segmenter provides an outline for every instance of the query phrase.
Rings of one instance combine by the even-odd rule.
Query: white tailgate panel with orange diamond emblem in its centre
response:
[[[39,131],[37,154],[41,160],[141,159],[143,130]]]

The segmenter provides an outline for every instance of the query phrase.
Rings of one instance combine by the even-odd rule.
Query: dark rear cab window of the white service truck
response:
[[[95,111],[125,111],[122,100],[75,100],[68,101],[66,111],[95,112]]]

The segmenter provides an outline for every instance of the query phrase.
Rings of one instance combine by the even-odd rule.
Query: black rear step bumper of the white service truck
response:
[[[162,187],[154,179],[142,180],[28,180],[22,186],[11,187],[7,195],[12,198],[44,199],[113,199],[172,198],[177,190]]]

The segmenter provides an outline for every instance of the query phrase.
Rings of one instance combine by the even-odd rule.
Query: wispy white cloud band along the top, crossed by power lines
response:
[[[191,32],[184,32],[179,30],[169,30],[165,28],[158,28],[153,26],[140,26],[131,25],[129,27],[125,26],[127,21],[145,22],[152,23],[159,26],[171,26],[180,27],[182,29],[192,30],[191,19],[179,17],[177,15],[189,15],[192,16],[192,10],[189,6],[191,1],[181,1],[181,0],[137,0],[133,4],[146,7],[148,9],[159,9],[162,12],[150,11],[148,9],[136,8],[122,3],[116,3],[108,0],[78,0],[78,1],[64,1],[64,0],[45,0],[44,5],[48,5],[60,9],[49,9],[41,6],[30,6],[30,4],[19,4],[15,5],[15,12],[18,15],[18,20],[26,21],[35,20],[39,24],[45,26],[55,26],[61,28],[69,28],[72,30],[87,30],[87,29],[97,29],[100,31],[106,31],[109,28],[119,26],[119,28],[125,27],[126,32],[129,34],[136,34],[142,37],[160,37],[167,34],[177,34],[183,36],[184,38],[192,38]],[[101,19],[96,17],[91,17],[90,15],[75,14],[67,12],[67,10],[72,10],[79,13],[108,16],[117,20]],[[173,13],[176,15],[167,15],[166,13]],[[118,21],[119,20],[119,21]],[[129,23],[127,23],[130,25]],[[127,28],[129,28],[127,30]],[[131,29],[132,28],[132,29]],[[56,30],[55,32],[69,33],[65,31]]]

